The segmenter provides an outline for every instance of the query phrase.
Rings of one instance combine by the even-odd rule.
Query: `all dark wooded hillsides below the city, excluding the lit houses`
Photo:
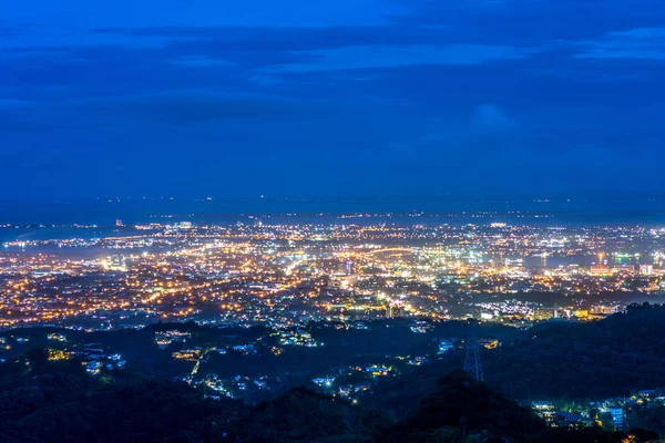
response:
[[[664,365],[659,364],[665,361],[664,316],[664,307],[640,305],[593,323],[555,322],[528,331],[481,326],[480,334],[498,337],[503,343],[482,352],[487,384],[456,370],[463,358],[457,350],[379,382],[371,395],[361,399],[361,405],[288,387],[257,404],[205,399],[203,392],[172,381],[173,368],[155,370],[163,362],[174,363],[166,363],[164,354],[168,352],[154,351],[152,344],[152,350],[145,351],[153,330],[98,332],[86,338],[105,340],[104,346],[110,347],[113,343],[109,340],[117,341],[127,359],[135,357],[139,363],[93,378],[76,359],[49,361],[48,352],[39,346],[0,363],[0,441],[454,443],[498,437],[515,442],[620,442],[626,435],[618,432],[548,429],[512,399],[600,399],[665,385]],[[195,331],[193,337],[200,343],[243,343],[265,332],[218,331],[193,324],[178,328]],[[336,331],[315,324],[310,327],[313,336],[326,340],[327,347],[313,351],[319,359],[331,356],[342,360],[347,347],[347,353],[352,349],[357,351],[354,357],[362,358],[379,334],[386,341],[375,346],[375,357],[389,349],[426,352],[432,337],[459,337],[470,326],[441,323],[430,334],[410,333],[407,339],[401,338],[400,328],[406,324],[381,323],[370,331]],[[35,344],[41,344],[39,339],[31,342]],[[246,361],[238,364],[306,367],[310,359],[301,357],[306,351],[294,350],[286,363],[259,353],[243,357],[241,360]],[[228,361],[213,363],[224,365]],[[664,411],[653,406],[634,411],[627,419],[632,426],[663,433]],[[631,433],[634,441],[657,437],[643,431]]]

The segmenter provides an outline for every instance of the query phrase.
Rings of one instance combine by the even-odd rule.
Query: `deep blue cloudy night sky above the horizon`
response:
[[[665,192],[662,0],[0,2],[0,198]]]

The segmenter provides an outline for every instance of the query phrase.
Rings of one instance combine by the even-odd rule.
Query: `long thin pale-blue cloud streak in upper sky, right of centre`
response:
[[[300,54],[308,62],[268,69],[272,72],[347,71],[409,65],[473,65],[501,60],[518,60],[536,52],[529,48],[481,44],[346,47]]]

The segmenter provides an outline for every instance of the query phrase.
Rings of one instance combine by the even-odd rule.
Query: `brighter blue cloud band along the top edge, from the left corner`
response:
[[[0,20],[30,20],[53,40],[79,41],[90,28],[136,27],[330,27],[383,24],[405,8],[390,0],[90,0],[2,1]],[[1,24],[1,23],[0,23]]]

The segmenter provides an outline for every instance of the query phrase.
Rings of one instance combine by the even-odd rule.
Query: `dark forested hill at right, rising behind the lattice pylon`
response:
[[[542,323],[508,336],[498,349],[481,349],[485,381],[521,401],[602,400],[663,388],[664,321],[665,307],[633,305],[602,321]],[[402,415],[463,359],[459,349],[409,374],[381,380],[364,401]]]

